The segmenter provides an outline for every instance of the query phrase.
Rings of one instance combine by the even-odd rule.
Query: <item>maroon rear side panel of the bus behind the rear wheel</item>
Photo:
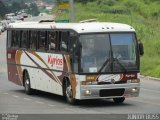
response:
[[[16,65],[15,56],[16,56],[16,50],[9,49],[7,51],[8,80],[17,85],[22,85],[17,70],[18,67]]]

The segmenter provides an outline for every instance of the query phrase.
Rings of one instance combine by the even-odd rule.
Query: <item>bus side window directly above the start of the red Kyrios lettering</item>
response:
[[[56,31],[48,32],[49,50],[56,50]]]

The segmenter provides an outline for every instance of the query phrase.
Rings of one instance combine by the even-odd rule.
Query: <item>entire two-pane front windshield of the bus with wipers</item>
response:
[[[84,34],[81,42],[81,73],[137,71],[134,33]]]

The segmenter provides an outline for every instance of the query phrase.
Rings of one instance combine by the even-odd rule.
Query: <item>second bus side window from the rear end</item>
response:
[[[12,31],[11,46],[13,48],[18,48],[20,44],[20,31]]]

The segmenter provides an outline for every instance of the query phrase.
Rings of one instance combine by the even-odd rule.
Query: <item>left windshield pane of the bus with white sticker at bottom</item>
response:
[[[81,72],[98,72],[109,58],[110,42],[108,34],[81,35]],[[108,68],[109,69],[109,68]]]

